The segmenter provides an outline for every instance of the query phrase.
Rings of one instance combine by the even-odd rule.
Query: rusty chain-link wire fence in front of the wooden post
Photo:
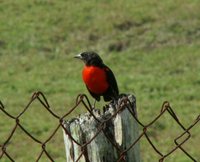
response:
[[[24,113],[26,111],[28,111],[30,105],[34,102],[34,101],[39,101],[40,104],[46,109],[46,111],[51,114],[56,120],[58,120],[58,125],[56,126],[56,128],[54,129],[54,131],[51,133],[51,135],[49,137],[46,138],[45,141],[41,141],[38,138],[34,137],[33,135],[31,135],[31,133],[29,131],[27,131],[23,125],[21,125],[20,123],[20,118],[24,115]],[[63,130],[65,131],[66,135],[69,136],[69,138],[76,143],[78,146],[80,146],[82,152],[79,155],[79,157],[76,159],[76,162],[78,162],[80,160],[80,158],[85,154],[86,151],[86,147],[87,145],[89,145],[95,138],[96,136],[98,136],[98,134],[102,131],[104,133],[104,135],[107,137],[107,139],[111,142],[111,144],[116,148],[118,154],[119,154],[119,159],[117,162],[126,162],[126,153],[135,146],[136,143],[138,143],[140,141],[141,138],[146,138],[149,145],[152,147],[152,149],[155,151],[155,153],[157,153],[160,158],[158,159],[159,162],[163,162],[165,160],[165,158],[167,158],[168,156],[170,156],[172,153],[174,153],[177,149],[180,149],[185,156],[187,156],[189,159],[191,159],[191,161],[196,162],[197,160],[195,159],[195,157],[193,157],[187,150],[185,150],[182,145],[184,143],[186,143],[188,141],[188,139],[191,137],[191,133],[190,130],[192,128],[194,128],[197,123],[199,123],[200,121],[200,115],[198,115],[198,117],[191,123],[190,126],[188,126],[187,128],[183,126],[183,124],[179,121],[177,115],[175,114],[175,112],[173,111],[173,109],[171,108],[169,102],[164,102],[161,108],[161,112],[159,115],[157,115],[150,123],[148,123],[147,125],[144,125],[136,116],[135,112],[133,111],[132,107],[127,105],[131,105],[130,101],[128,98],[125,98],[124,100],[122,100],[123,103],[120,103],[118,106],[118,109],[115,111],[115,113],[109,117],[108,119],[104,120],[104,121],[100,121],[99,119],[97,119],[97,117],[94,115],[93,113],[93,108],[90,104],[90,101],[88,99],[88,97],[85,94],[80,94],[77,96],[76,102],[75,102],[75,106],[72,107],[71,109],[68,110],[68,112],[62,116],[58,116],[55,112],[53,112],[50,108],[50,105],[45,97],[45,95],[42,92],[35,92],[30,101],[28,102],[28,104],[25,106],[25,108],[19,113],[19,115],[17,116],[13,116],[12,114],[8,113],[5,110],[5,106],[3,105],[3,103],[0,101],[0,110],[2,113],[4,113],[7,117],[10,118],[10,120],[15,120],[15,125],[12,128],[12,130],[10,131],[9,135],[7,136],[6,140],[3,143],[0,143],[0,160],[3,156],[6,156],[10,161],[15,161],[14,157],[12,157],[9,152],[7,151],[7,147],[8,147],[8,143],[11,141],[11,139],[13,138],[13,135],[15,133],[15,131],[17,129],[21,129],[28,137],[30,137],[32,139],[33,142],[38,143],[41,145],[41,152],[39,153],[39,155],[36,157],[36,161],[39,161],[42,157],[43,154],[46,155],[46,157],[50,160],[50,161],[54,161],[53,157],[48,153],[48,151],[46,150],[46,144],[51,141],[51,139],[54,137],[54,135],[56,134],[56,132],[60,129],[63,128]],[[76,141],[74,139],[74,137],[70,134],[70,132],[65,128],[64,126],[64,118],[67,117],[68,115],[70,115],[71,113],[73,113],[73,111],[75,109],[77,109],[79,107],[79,105],[82,104],[84,105],[84,108],[91,114],[91,116],[94,117],[94,119],[100,123],[97,129],[96,134],[89,140],[86,141],[85,143],[81,144],[78,141]],[[117,115],[117,113],[119,113],[120,111],[122,111],[124,109],[124,107],[127,107],[129,112],[131,113],[132,117],[135,119],[135,121],[137,121],[138,125],[140,125],[143,130],[142,133],[139,134],[138,138],[135,141],[132,141],[132,143],[130,144],[130,146],[124,150],[122,150],[115,141],[113,141],[112,139],[109,138],[109,136],[106,134],[106,132],[104,131],[104,127],[107,121],[109,121],[110,119],[112,119],[113,117],[115,117]],[[174,140],[175,143],[175,147],[172,148],[168,153],[163,154],[161,151],[159,151],[159,149],[154,145],[153,141],[150,139],[149,135],[147,134],[147,130],[157,121],[159,120],[165,113],[168,113],[173,120],[178,124],[178,126],[182,129],[182,134],[180,134],[178,137],[176,137]],[[181,142],[178,142],[178,140],[180,138],[182,138],[184,135],[187,135],[187,137],[185,139],[183,139]]]

